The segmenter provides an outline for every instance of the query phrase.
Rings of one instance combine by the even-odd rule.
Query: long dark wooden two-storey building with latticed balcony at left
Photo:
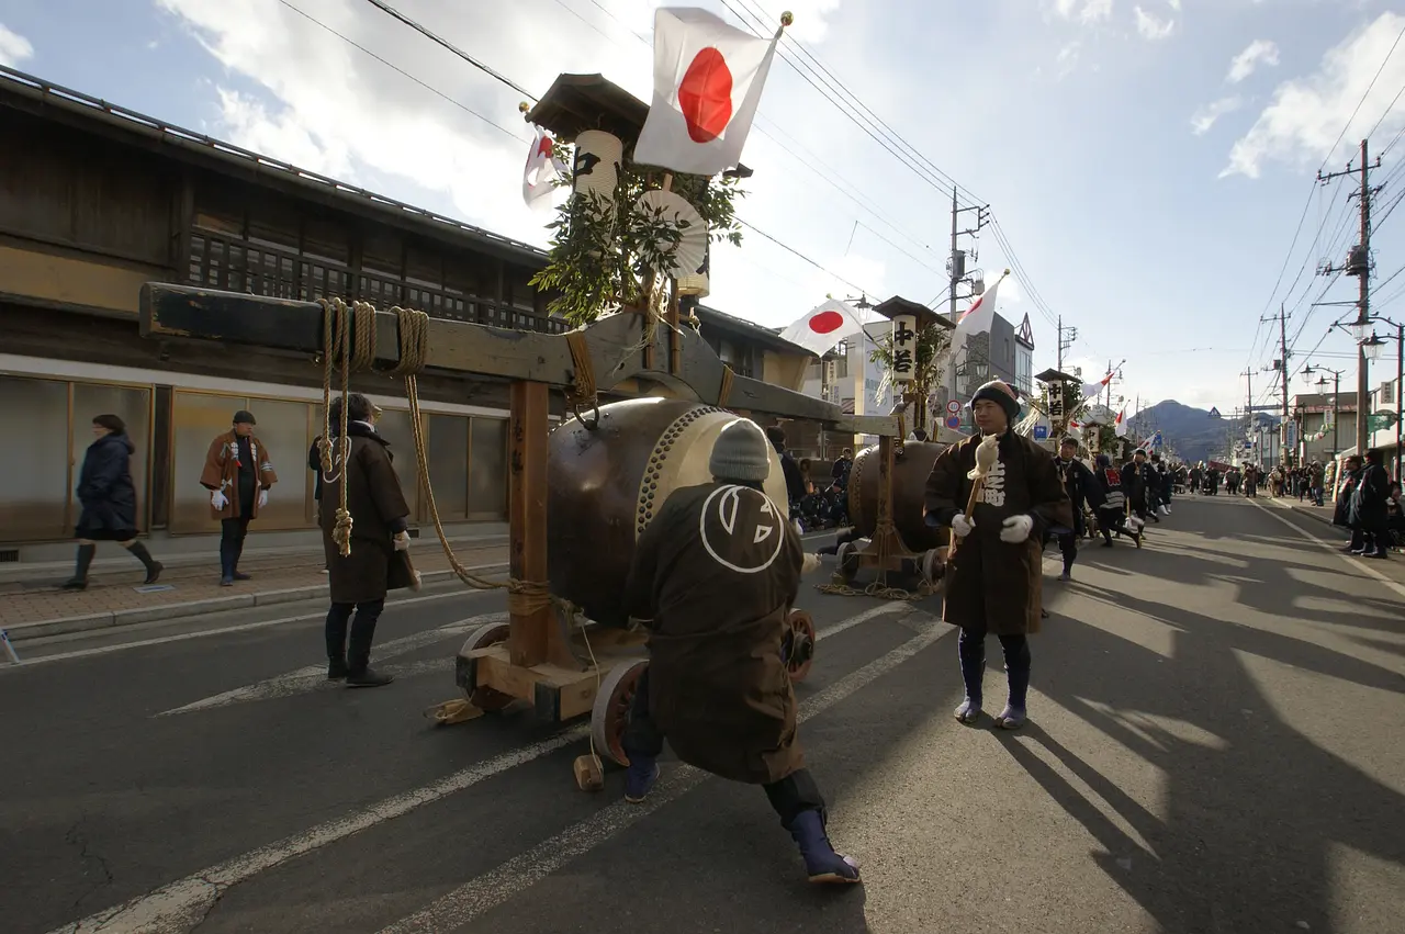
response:
[[[306,360],[138,334],[146,281],[315,299],[364,298],[436,317],[563,331],[528,285],[545,253],[479,228],[164,125],[39,79],[0,70],[0,560],[72,535],[93,416],[121,416],[139,525],[218,531],[198,475],[209,441],[249,409],[280,483],[260,531],[309,530],[308,449],[322,433],[319,368]],[[798,388],[804,351],[698,309],[702,333],[743,375]],[[417,487],[399,382],[354,388],[385,409],[414,520]],[[506,400],[471,378],[422,378],[430,475],[447,521],[507,513]]]

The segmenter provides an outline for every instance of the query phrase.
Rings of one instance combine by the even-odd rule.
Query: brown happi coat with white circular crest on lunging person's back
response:
[[[781,662],[804,559],[764,493],[726,483],[674,492],[639,537],[629,615],[648,621],[649,706],[683,761],[749,784],[804,767]]]

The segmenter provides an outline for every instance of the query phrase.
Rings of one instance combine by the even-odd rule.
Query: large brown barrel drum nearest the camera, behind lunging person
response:
[[[600,406],[593,428],[575,417],[556,426],[547,468],[551,591],[601,625],[628,625],[635,541],[670,493],[712,480],[712,444],[736,419],[695,402],[643,397]],[[780,455],[770,448],[770,456],[766,494],[788,518]]]

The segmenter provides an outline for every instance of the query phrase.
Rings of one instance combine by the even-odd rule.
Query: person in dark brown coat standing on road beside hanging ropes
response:
[[[381,687],[393,680],[370,667],[371,642],[385,610],[385,594],[417,586],[402,553],[410,546],[410,507],[391,463],[391,444],[375,430],[374,407],[358,392],[346,396],[351,452],[343,462],[341,404],[341,399],[332,402],[333,465],[332,473],[322,478],[319,503],[322,545],[332,586],[326,625],[327,680],[346,678],[347,687],[353,688]],[[351,553],[346,558],[332,538],[337,510],[341,508],[343,482],[347,485],[347,511],[351,513]]]

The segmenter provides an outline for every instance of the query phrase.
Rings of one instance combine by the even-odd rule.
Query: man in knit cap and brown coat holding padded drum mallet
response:
[[[1026,721],[1030,687],[1030,643],[1043,612],[1044,531],[1072,528],[1073,510],[1054,456],[1010,430],[1020,412],[1014,392],[999,379],[971,399],[979,435],[937,456],[927,476],[926,521],[950,525],[954,552],[947,563],[946,622],[961,626],[958,655],[965,701],[955,709],[962,723],[981,716],[985,636],[995,633],[1005,650],[1010,694],[996,726],[1019,729]],[[999,459],[991,468],[967,515],[975,449],[982,435],[999,438]]]

